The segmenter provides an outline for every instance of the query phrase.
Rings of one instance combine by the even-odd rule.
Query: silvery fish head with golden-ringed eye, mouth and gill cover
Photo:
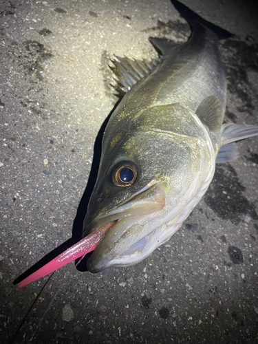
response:
[[[103,136],[84,222],[83,236],[114,222],[87,261],[91,272],[136,264],[169,239],[211,170],[204,129],[179,105],[118,119]]]

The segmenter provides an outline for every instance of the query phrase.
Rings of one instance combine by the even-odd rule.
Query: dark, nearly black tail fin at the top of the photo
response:
[[[210,23],[209,21],[206,21],[205,19],[200,17],[200,15],[190,10],[190,8],[185,6],[183,3],[180,3],[180,1],[171,0],[171,3],[175,7],[175,9],[178,10],[178,12],[180,12],[182,17],[186,19],[186,21],[188,21],[188,23],[191,25],[193,30],[194,30],[194,26],[199,24],[215,32],[218,39],[228,39],[229,37],[233,36],[233,34],[230,34],[230,32],[228,32],[227,30],[219,28],[219,26],[213,23]]]

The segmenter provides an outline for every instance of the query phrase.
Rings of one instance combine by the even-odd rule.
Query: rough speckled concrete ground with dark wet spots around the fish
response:
[[[236,35],[220,43],[226,114],[258,125],[257,6],[184,3]],[[13,286],[80,237],[94,143],[117,101],[109,58],[153,58],[149,36],[190,30],[169,0],[2,0],[0,21],[0,343],[258,343],[258,138],[239,142],[241,158],[217,166],[182,228],[140,264],[92,275],[72,263]]]

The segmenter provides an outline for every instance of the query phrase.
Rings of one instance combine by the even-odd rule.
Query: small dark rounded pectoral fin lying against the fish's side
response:
[[[217,96],[208,96],[202,100],[195,114],[210,131],[217,131],[222,126],[222,106]]]

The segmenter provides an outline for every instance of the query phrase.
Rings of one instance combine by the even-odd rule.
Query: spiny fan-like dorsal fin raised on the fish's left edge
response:
[[[126,93],[135,85],[139,80],[151,73],[153,68],[160,63],[158,60],[131,60],[127,57],[118,57],[111,60],[115,67],[111,70],[116,74],[116,85],[114,88],[119,93]]]

